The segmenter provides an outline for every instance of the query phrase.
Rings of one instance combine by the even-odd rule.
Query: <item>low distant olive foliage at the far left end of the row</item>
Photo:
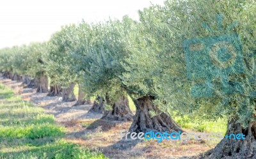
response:
[[[31,43],[20,47],[0,50],[1,72],[13,72],[19,75],[35,77],[45,72],[44,56],[46,43]]]

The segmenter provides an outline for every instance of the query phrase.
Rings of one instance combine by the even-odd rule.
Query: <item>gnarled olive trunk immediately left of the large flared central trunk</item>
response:
[[[106,97],[107,103],[108,96]],[[126,96],[122,96],[112,106],[112,110],[104,110],[102,119],[118,120],[118,121],[132,121],[132,112],[129,108],[129,100]]]

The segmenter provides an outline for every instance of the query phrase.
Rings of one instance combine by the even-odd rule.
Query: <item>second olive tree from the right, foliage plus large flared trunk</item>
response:
[[[129,54],[122,63],[125,71],[120,78],[129,89],[136,105],[136,114],[129,132],[182,131],[170,114],[164,111],[166,108],[159,107],[166,105],[166,101],[156,103],[159,95],[155,90],[155,80],[166,78],[163,69],[159,67],[164,61],[157,61],[155,57],[163,56],[161,52],[164,45],[157,44],[166,40],[154,38],[154,34],[160,31],[155,29],[154,25],[161,22],[156,13],[157,10],[154,8],[140,11],[140,23],[129,33],[125,45]]]

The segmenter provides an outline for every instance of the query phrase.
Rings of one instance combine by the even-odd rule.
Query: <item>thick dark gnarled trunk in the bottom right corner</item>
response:
[[[256,158],[256,123],[250,122],[248,128],[242,128],[235,119],[228,123],[226,135],[243,133],[245,139],[231,139],[224,137],[221,142],[210,151],[204,153],[201,158]]]

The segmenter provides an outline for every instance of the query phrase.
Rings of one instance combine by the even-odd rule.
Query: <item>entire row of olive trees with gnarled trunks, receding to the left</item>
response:
[[[182,131],[171,117],[174,114],[195,119],[225,116],[232,119],[228,133],[248,132],[255,126],[255,98],[248,94],[256,87],[254,80],[248,81],[255,75],[255,57],[251,56],[256,50],[255,5],[253,1],[175,0],[140,11],[139,22],[124,16],[122,20],[70,24],[49,42],[0,50],[0,71],[37,87],[38,92],[61,95],[65,102],[76,100],[73,89],[78,84],[77,105],[97,96],[92,111],[104,111],[105,119],[133,120],[130,132]],[[218,15],[223,19],[217,20]],[[238,26],[230,28],[233,22]],[[244,94],[227,95],[216,88],[211,98],[194,98],[191,87],[205,79],[188,79],[184,40],[234,33],[241,37],[246,68],[230,80],[241,82]],[[204,67],[202,61],[196,61],[198,66]],[[136,105],[135,116],[127,95]],[[249,154],[254,148],[253,134],[248,133],[249,144],[243,145],[243,152],[235,149],[240,141],[225,149],[230,143],[223,139],[212,157]]]

